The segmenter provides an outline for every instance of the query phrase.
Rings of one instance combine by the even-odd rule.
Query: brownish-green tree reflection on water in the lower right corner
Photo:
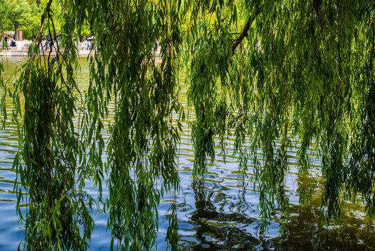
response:
[[[273,238],[275,250],[366,250],[375,247],[374,226],[346,215],[340,227],[322,224],[319,203],[310,206],[293,206],[292,216],[285,234]]]

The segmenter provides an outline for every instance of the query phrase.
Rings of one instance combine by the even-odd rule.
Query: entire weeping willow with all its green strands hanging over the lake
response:
[[[51,1],[41,33],[56,38]],[[95,201],[83,190],[87,179],[99,193],[103,182],[108,185],[111,248],[154,248],[159,200],[179,190],[182,70],[196,111],[194,176],[214,161],[216,144],[225,153],[225,135],[234,132],[239,169],[255,170],[263,231],[276,208],[287,219],[287,150],[293,148],[300,176],[310,175],[309,151],[322,156],[327,221],[340,222],[344,202],[356,203],[359,195],[374,217],[375,1],[60,3],[56,56],[40,52],[39,38],[15,91],[8,91],[19,123],[18,206],[22,190],[28,192],[25,218],[19,210],[26,249],[88,248]],[[72,31],[83,25],[96,38],[84,94],[74,81],[72,40]],[[161,65],[154,58],[158,49]],[[109,112],[115,118],[106,127]],[[109,130],[109,142],[103,130]],[[303,204],[312,188],[298,192]],[[176,208],[170,209],[166,241],[177,250]]]

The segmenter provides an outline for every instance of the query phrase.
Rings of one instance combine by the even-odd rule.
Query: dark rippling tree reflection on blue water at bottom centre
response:
[[[213,188],[207,189],[205,185],[212,185]],[[193,181],[192,188],[196,211],[191,215],[191,220],[196,223],[196,238],[200,241],[194,250],[248,250],[260,244],[257,238],[244,231],[244,227],[255,222],[255,219],[246,216],[244,192],[239,203],[231,204],[230,212],[223,213],[223,206],[232,200],[225,194],[228,188],[197,180]],[[216,208],[214,202],[220,207]]]

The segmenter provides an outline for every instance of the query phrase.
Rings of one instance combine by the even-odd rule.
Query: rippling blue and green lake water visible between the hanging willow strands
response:
[[[20,61],[26,58],[0,58],[5,67],[3,74],[8,79]],[[79,85],[88,85],[88,63],[81,59],[81,72],[77,73]],[[2,92],[2,91],[1,91]],[[8,114],[10,114],[10,100]],[[184,109],[189,108],[184,89],[181,93]],[[191,110],[192,112],[192,110]],[[261,236],[259,193],[253,183],[239,174],[237,158],[231,158],[234,141],[228,139],[228,156],[223,161],[217,149],[214,165],[209,165],[208,173],[202,180],[194,181],[193,146],[191,128],[184,125],[178,153],[178,168],[182,191],[177,200],[163,198],[159,205],[159,232],[156,250],[166,250],[164,238],[168,228],[168,208],[177,204],[179,238],[182,250],[375,250],[374,221],[365,218],[363,206],[348,204],[344,211],[344,224],[340,227],[326,227],[321,222],[320,194],[323,181],[320,178],[319,156],[311,153],[312,176],[303,182],[314,182],[317,194],[310,206],[298,206],[296,151],[289,150],[287,191],[289,194],[290,221],[285,233],[278,233],[280,214],[276,212],[269,225],[269,234]],[[17,222],[13,192],[15,173],[12,163],[17,152],[17,128],[7,123],[6,130],[0,130],[0,250],[17,250],[22,241],[24,228]],[[251,173],[251,169],[249,168]],[[92,183],[86,183],[90,195],[96,196]],[[104,197],[108,191],[104,189]],[[105,214],[94,213],[95,230],[90,242],[90,250],[109,250],[111,238],[106,232]]]

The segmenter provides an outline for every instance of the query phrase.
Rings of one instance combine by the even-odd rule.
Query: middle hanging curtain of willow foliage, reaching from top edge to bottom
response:
[[[173,64],[180,42],[177,2],[86,1],[67,8],[78,23],[89,24],[96,38],[85,120],[89,165],[101,168],[96,182],[102,183],[105,172],[109,175],[105,208],[111,248],[118,241],[125,250],[150,250],[156,241],[159,198],[179,188],[179,128],[172,121],[173,113],[181,112]],[[154,64],[157,39],[161,66]],[[100,131],[110,102],[115,104],[115,119],[103,167]],[[176,247],[176,211],[173,215],[167,241]]]

